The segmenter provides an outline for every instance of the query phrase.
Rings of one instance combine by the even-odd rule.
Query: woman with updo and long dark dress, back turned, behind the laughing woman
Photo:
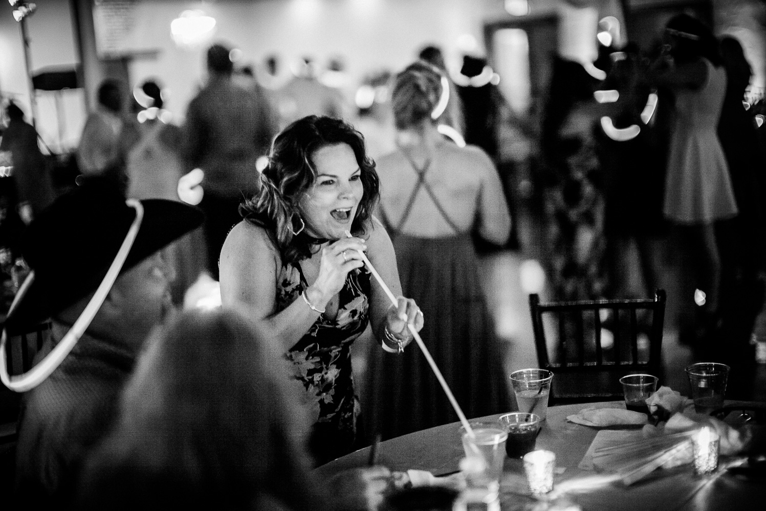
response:
[[[478,417],[510,407],[471,231],[502,245],[511,219],[486,153],[460,148],[437,131],[435,119],[448,101],[445,78],[423,61],[396,77],[398,149],[378,161],[379,213],[394,242],[404,295],[427,317],[421,337],[463,411]],[[421,353],[372,353],[371,371],[373,421],[384,438],[457,421]]]

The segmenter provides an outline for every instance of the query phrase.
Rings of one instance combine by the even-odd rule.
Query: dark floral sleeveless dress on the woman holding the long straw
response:
[[[308,287],[300,265],[286,264],[277,278],[277,312]],[[354,392],[351,345],[369,322],[370,274],[366,268],[349,272],[340,291],[338,315],[324,314],[285,353],[293,378],[303,386],[304,404],[313,421],[309,448],[317,464],[352,452],[361,441],[357,418],[361,411]]]

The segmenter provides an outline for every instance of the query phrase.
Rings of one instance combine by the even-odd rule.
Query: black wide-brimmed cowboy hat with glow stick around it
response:
[[[121,272],[195,229],[201,210],[172,200],[140,201],[143,220]],[[21,254],[34,282],[5,321],[24,330],[95,291],[106,275],[136,210],[116,187],[88,181],[59,197],[28,226]]]

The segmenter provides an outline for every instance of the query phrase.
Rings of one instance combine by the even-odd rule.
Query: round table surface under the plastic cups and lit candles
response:
[[[741,402],[728,402],[727,404]],[[565,469],[555,482],[597,475],[592,470],[578,468],[588,447],[596,437],[598,428],[577,425],[566,420],[582,408],[624,408],[623,402],[601,402],[548,408],[537,438],[537,449],[547,449],[556,454],[556,467]],[[495,420],[499,415],[489,415],[476,420]],[[436,476],[457,471],[463,453],[460,441],[460,423],[438,426],[410,435],[381,442],[378,445],[378,464],[391,470],[428,470]],[[370,448],[340,457],[317,467],[318,477],[330,477],[340,470],[362,467],[368,463]],[[661,474],[660,474],[661,473]],[[522,461],[506,457],[501,480],[501,504],[503,511],[532,509],[537,500],[525,490]],[[526,493],[526,494],[525,494]],[[670,470],[660,470],[645,480],[625,487],[620,483],[605,483],[567,498],[579,504],[585,511],[612,511],[613,509],[747,509],[760,508],[766,498],[766,485],[758,481],[741,480],[720,471],[710,477],[696,477],[692,467],[685,465]]]

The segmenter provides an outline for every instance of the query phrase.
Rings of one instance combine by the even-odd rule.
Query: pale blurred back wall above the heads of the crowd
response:
[[[241,50],[239,65],[258,67],[276,56],[278,73],[311,57],[325,67],[342,63],[352,97],[358,81],[378,70],[398,70],[424,44],[444,48],[450,67],[463,54],[489,57],[500,88],[521,116],[534,116],[548,87],[555,53],[589,62],[597,57],[598,21],[614,17],[619,41],[641,47],[657,41],[663,24],[679,11],[705,19],[719,34],[741,39],[764,85],[764,3],[761,0],[39,0],[28,27],[31,74],[51,67],[78,70],[83,88],[38,92],[36,121],[53,151],[77,144],[87,106],[105,76],[131,85],[159,78],[169,92],[166,107],[181,122],[188,101],[205,79],[204,53],[211,41]],[[0,5],[0,93],[29,113],[19,24]],[[183,16],[185,11],[194,15]],[[195,37],[172,37],[178,18]],[[191,21],[188,18],[193,18]],[[205,20],[201,21],[201,18]],[[178,21],[176,22],[178,23]],[[63,118],[63,119],[62,119]]]

